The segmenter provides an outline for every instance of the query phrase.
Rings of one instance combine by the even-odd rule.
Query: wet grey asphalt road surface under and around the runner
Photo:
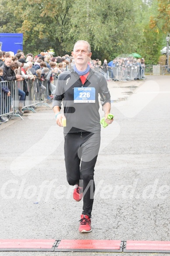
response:
[[[50,105],[0,126],[0,239],[170,241],[170,77],[108,84],[114,122],[102,129],[92,232],[78,232],[82,202],[66,181],[63,131]],[[0,252],[28,255],[121,253]]]

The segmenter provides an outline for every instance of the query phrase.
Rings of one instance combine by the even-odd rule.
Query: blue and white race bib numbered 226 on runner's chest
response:
[[[94,87],[74,88],[74,103],[95,103]]]

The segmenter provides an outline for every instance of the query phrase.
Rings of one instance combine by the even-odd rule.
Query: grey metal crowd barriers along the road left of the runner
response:
[[[45,105],[50,108],[50,106],[45,102],[49,97],[48,81],[41,81],[40,79],[35,79],[35,81],[32,81],[28,79],[26,83],[28,95],[26,94],[25,101],[23,101],[22,110],[31,110],[35,113],[35,107],[39,105]],[[43,90],[41,88],[42,85]],[[3,90],[3,88],[6,87],[11,92],[10,96],[7,96]],[[18,89],[24,90],[23,81],[0,82],[0,116],[19,116],[23,120],[18,109],[20,106],[20,96],[18,95]]]

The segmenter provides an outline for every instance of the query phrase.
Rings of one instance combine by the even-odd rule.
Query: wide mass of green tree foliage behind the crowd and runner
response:
[[[22,32],[26,53],[54,49],[56,55],[62,56],[66,52],[71,54],[77,40],[87,40],[92,58],[102,61],[132,52],[154,63],[157,59],[161,36],[148,30],[157,0],[1,2],[0,32]]]

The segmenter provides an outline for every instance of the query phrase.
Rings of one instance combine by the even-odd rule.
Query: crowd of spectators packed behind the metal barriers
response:
[[[145,60],[143,58],[136,59],[133,57],[114,58],[109,63],[107,63],[105,59],[102,64],[99,59],[90,59],[89,65],[91,69],[101,72],[106,77],[107,81],[110,81],[110,79],[116,80],[117,74],[120,78],[124,76],[125,72],[126,76],[129,76],[130,72],[136,69],[144,76],[142,70],[145,67]],[[17,54],[14,55],[12,52],[0,50],[0,124],[6,123],[9,119],[14,119],[13,115],[5,115],[5,113],[12,111],[7,107],[7,103],[12,101],[11,90],[13,90],[13,88],[11,87],[13,83],[10,84],[3,81],[23,82],[23,88],[18,88],[18,114],[23,115],[24,112],[28,112],[28,110],[22,111],[26,96],[28,96],[29,93],[32,94],[32,92],[28,91],[28,81],[30,83],[37,81],[39,101],[43,100],[43,94],[47,90],[46,86],[42,83],[42,81],[46,81],[49,92],[48,99],[51,100],[56,89],[53,81],[57,79],[62,72],[71,69],[73,66],[74,58],[68,54],[62,57],[54,57],[52,54],[41,52],[33,56],[31,53],[25,55],[22,50],[18,50]],[[115,72],[115,68],[117,68],[118,73]],[[137,76],[137,74],[135,76]],[[31,95],[31,98],[33,97],[34,96]]]

